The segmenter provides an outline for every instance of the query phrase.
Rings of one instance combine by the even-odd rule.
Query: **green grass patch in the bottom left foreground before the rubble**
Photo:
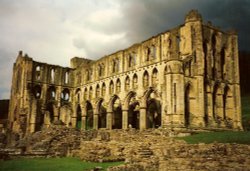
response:
[[[78,158],[20,158],[15,160],[0,161],[0,171],[83,171],[96,166],[107,169],[109,166],[123,162],[93,163],[83,162]]]

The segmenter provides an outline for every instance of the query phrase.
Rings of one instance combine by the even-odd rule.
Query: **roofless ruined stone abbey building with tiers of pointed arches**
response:
[[[31,133],[63,122],[79,129],[242,129],[238,42],[234,31],[184,24],[98,60],[70,67],[19,52],[9,127]]]

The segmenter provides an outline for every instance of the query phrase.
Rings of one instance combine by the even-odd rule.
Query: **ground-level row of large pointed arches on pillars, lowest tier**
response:
[[[158,128],[161,126],[161,103],[155,98],[154,91],[148,91],[145,102],[138,100],[135,92],[129,92],[123,103],[118,95],[113,95],[108,105],[102,98],[95,104],[86,101],[83,108],[77,104],[76,127],[79,129]],[[141,121],[143,117],[146,118],[145,123]]]

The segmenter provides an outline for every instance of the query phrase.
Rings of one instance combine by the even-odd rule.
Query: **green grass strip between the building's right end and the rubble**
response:
[[[250,132],[206,132],[177,139],[185,140],[189,144],[213,142],[250,144]]]

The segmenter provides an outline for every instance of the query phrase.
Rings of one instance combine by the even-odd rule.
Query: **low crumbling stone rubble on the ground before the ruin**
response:
[[[185,133],[187,134],[187,133]],[[248,170],[250,146],[187,144],[170,130],[79,131],[51,127],[17,142],[26,157],[74,156],[85,161],[125,161],[109,171]]]

